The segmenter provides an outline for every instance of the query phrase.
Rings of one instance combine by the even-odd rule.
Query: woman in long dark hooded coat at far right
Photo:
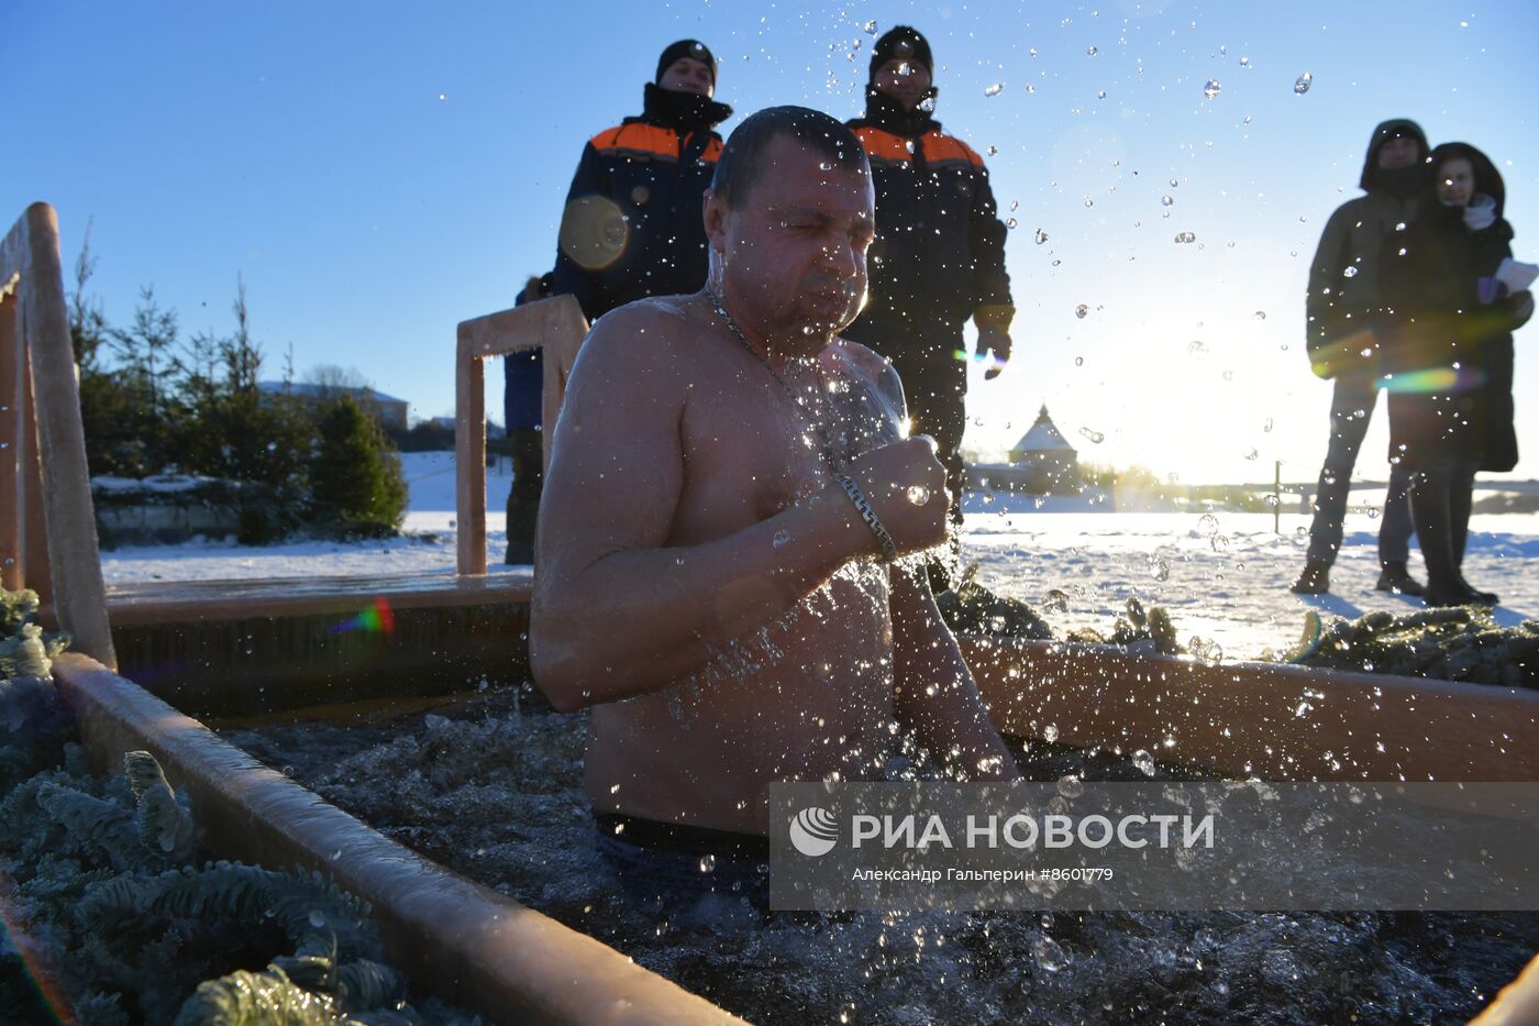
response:
[[[1505,188],[1467,143],[1430,159],[1436,203],[1393,233],[1380,260],[1393,330],[1382,351],[1390,391],[1390,461],[1411,471],[1411,519],[1427,562],[1428,605],[1494,605],[1461,572],[1474,474],[1511,470],[1513,328],[1533,297],[1493,277],[1511,257]]]

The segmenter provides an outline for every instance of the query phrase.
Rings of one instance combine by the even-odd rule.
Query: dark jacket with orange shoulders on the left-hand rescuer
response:
[[[554,294],[571,293],[594,320],[646,296],[705,283],[700,202],[733,109],[646,85],[640,117],[594,136],[566,193]]]

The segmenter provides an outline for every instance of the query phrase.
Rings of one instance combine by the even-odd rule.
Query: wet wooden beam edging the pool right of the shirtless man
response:
[[[1003,733],[1234,776],[1539,781],[1539,692],[963,638]]]

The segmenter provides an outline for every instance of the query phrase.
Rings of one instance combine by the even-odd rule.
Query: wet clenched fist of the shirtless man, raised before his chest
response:
[[[893,536],[899,553],[931,548],[946,539],[946,468],[936,459],[936,442],[926,434],[891,442],[860,456],[845,468],[857,488],[871,502],[882,527]],[[828,485],[831,502],[850,507],[848,518],[866,535],[862,550],[880,547],[837,484]]]

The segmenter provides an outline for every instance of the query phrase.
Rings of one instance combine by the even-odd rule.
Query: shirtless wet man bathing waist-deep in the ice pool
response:
[[[902,730],[957,776],[1017,778],[922,559],[883,562],[871,525],[917,553],[950,501],[893,368],[837,337],[873,205],[850,129],[760,111],[705,194],[706,288],[616,310],[582,348],[529,658],[556,709],[593,707],[597,813],[763,837],[768,784],[879,776]]]

